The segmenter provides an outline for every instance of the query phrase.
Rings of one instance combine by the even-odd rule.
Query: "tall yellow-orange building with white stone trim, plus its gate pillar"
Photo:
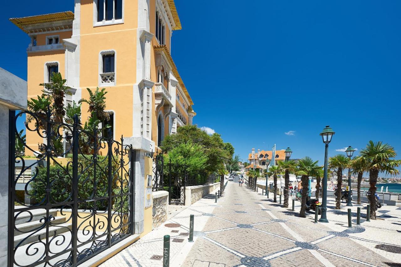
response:
[[[148,233],[147,180],[153,173],[146,153],[196,115],[170,53],[172,31],[181,29],[174,0],[75,0],[74,12],[10,20],[31,38],[28,99],[41,95],[39,84],[52,72],[71,88],[66,105],[87,99],[86,88],[106,88],[113,136],[136,150],[135,223],[139,234]],[[83,103],[82,121],[86,111]],[[30,132],[26,140],[30,148],[43,142]]]

